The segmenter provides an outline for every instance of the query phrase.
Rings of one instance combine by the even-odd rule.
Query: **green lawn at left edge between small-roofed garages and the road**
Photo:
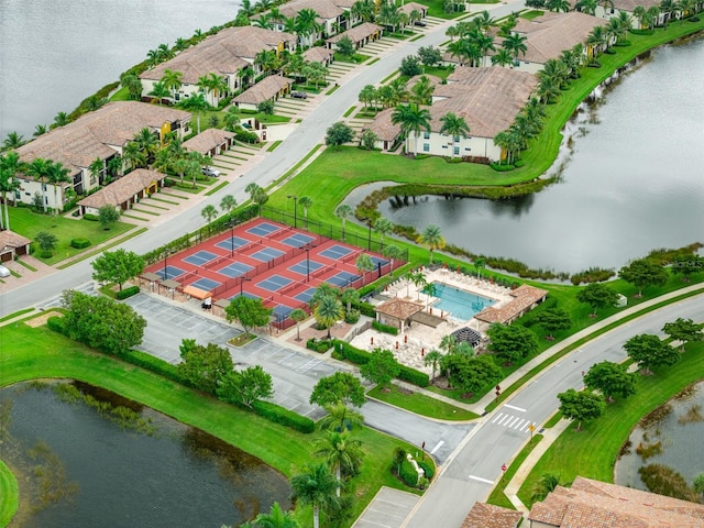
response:
[[[54,218],[48,215],[37,215],[26,207],[10,208],[10,227],[12,231],[34,240],[36,233],[46,231],[56,235],[58,243],[54,256],[51,258],[41,258],[46,264],[56,264],[65,258],[69,258],[79,253],[92,251],[92,249],[107,240],[124,234],[134,226],[125,222],[118,222],[108,231],[103,230],[100,222],[89,220],[68,219],[64,217],[56,218],[56,227],[53,227]],[[70,241],[76,238],[86,238],[90,241],[90,245],[82,250],[70,246]],[[35,253],[37,256],[38,253]]]

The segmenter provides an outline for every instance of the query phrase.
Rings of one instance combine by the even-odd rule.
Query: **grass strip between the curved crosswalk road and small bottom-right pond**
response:
[[[546,473],[559,474],[563,483],[572,482],[576,475],[614,482],[614,464],[632,428],[644,416],[704,377],[704,343],[688,345],[678,363],[653,372],[652,376],[638,377],[635,396],[609,404],[601,418],[583,424],[582,431],[570,427],[560,435],[518,492],[526,506],[532,504],[531,488]]]

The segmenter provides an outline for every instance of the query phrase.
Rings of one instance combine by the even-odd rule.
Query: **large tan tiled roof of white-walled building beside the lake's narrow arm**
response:
[[[494,138],[510,127],[537,85],[537,77],[526,72],[458,66],[447,85],[436,86],[428,108],[431,129],[439,132],[440,118],[453,112],[464,118],[471,135]]]

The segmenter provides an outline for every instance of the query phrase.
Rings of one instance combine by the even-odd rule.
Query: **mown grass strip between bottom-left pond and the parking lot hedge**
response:
[[[0,386],[35,378],[78,380],[105,387],[140,402],[183,424],[197,427],[260,458],[272,468],[290,476],[312,460],[312,440],[320,433],[302,435],[272,424],[253,414],[222,404],[174,382],[160,377],[111,356],[99,354],[45,326],[30,328],[20,323],[2,329],[0,342]],[[237,427],[233,427],[237,425]],[[416,447],[369,428],[355,431],[363,443],[365,459],[361,474],[353,481],[354,504],[351,518],[356,518],[383,485],[408,490],[391,474],[392,452],[396,447],[407,451]],[[286,441],[282,442],[280,439]],[[0,504],[11,499],[0,487]],[[308,515],[306,515],[308,514]],[[312,524],[309,510],[297,512],[301,526]],[[305,517],[305,518],[304,518]]]

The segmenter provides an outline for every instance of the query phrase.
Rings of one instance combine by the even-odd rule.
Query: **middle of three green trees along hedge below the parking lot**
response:
[[[234,367],[230,351],[215,343],[198,344],[195,339],[184,339],[178,348],[182,362],[179,374],[194,387],[216,394],[220,383]]]

